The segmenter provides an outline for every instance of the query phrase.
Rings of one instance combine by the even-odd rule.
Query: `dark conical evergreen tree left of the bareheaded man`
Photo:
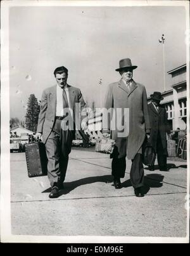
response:
[[[40,106],[34,94],[30,94],[25,115],[25,126],[28,130],[36,132]]]

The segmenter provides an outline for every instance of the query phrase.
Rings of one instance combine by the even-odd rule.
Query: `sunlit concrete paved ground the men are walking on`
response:
[[[72,149],[65,190],[49,199],[47,177],[28,178],[25,153],[11,154],[13,234],[53,236],[186,236],[185,162],[169,172],[145,170],[147,194],[136,198],[127,161],[122,189],[115,189],[111,159],[94,149]],[[172,165],[171,165],[172,164]]]

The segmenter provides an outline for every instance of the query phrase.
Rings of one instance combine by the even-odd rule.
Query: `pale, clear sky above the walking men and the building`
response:
[[[30,94],[56,84],[53,71],[64,65],[68,84],[80,88],[91,106],[103,106],[108,84],[118,81],[119,60],[130,58],[134,80],[148,96],[163,91],[163,46],[167,71],[186,63],[183,6],[14,6],[9,9],[10,117],[24,119]],[[99,81],[101,79],[101,85]]]

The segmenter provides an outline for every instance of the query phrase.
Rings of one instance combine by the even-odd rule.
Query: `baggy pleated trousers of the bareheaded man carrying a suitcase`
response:
[[[65,180],[72,140],[73,131],[61,129],[61,120],[56,119],[45,144],[47,176],[51,187],[59,186]]]

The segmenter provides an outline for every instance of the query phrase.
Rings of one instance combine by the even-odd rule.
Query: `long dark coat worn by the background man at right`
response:
[[[158,111],[156,111],[153,103],[148,104],[149,109],[149,118],[151,121],[151,133],[149,137],[149,142],[154,147],[156,152],[156,144],[158,138],[158,132],[160,132],[162,146],[163,146],[163,154],[167,154],[167,133],[168,130],[168,123],[167,123],[167,112],[165,107],[161,105],[158,107]]]

